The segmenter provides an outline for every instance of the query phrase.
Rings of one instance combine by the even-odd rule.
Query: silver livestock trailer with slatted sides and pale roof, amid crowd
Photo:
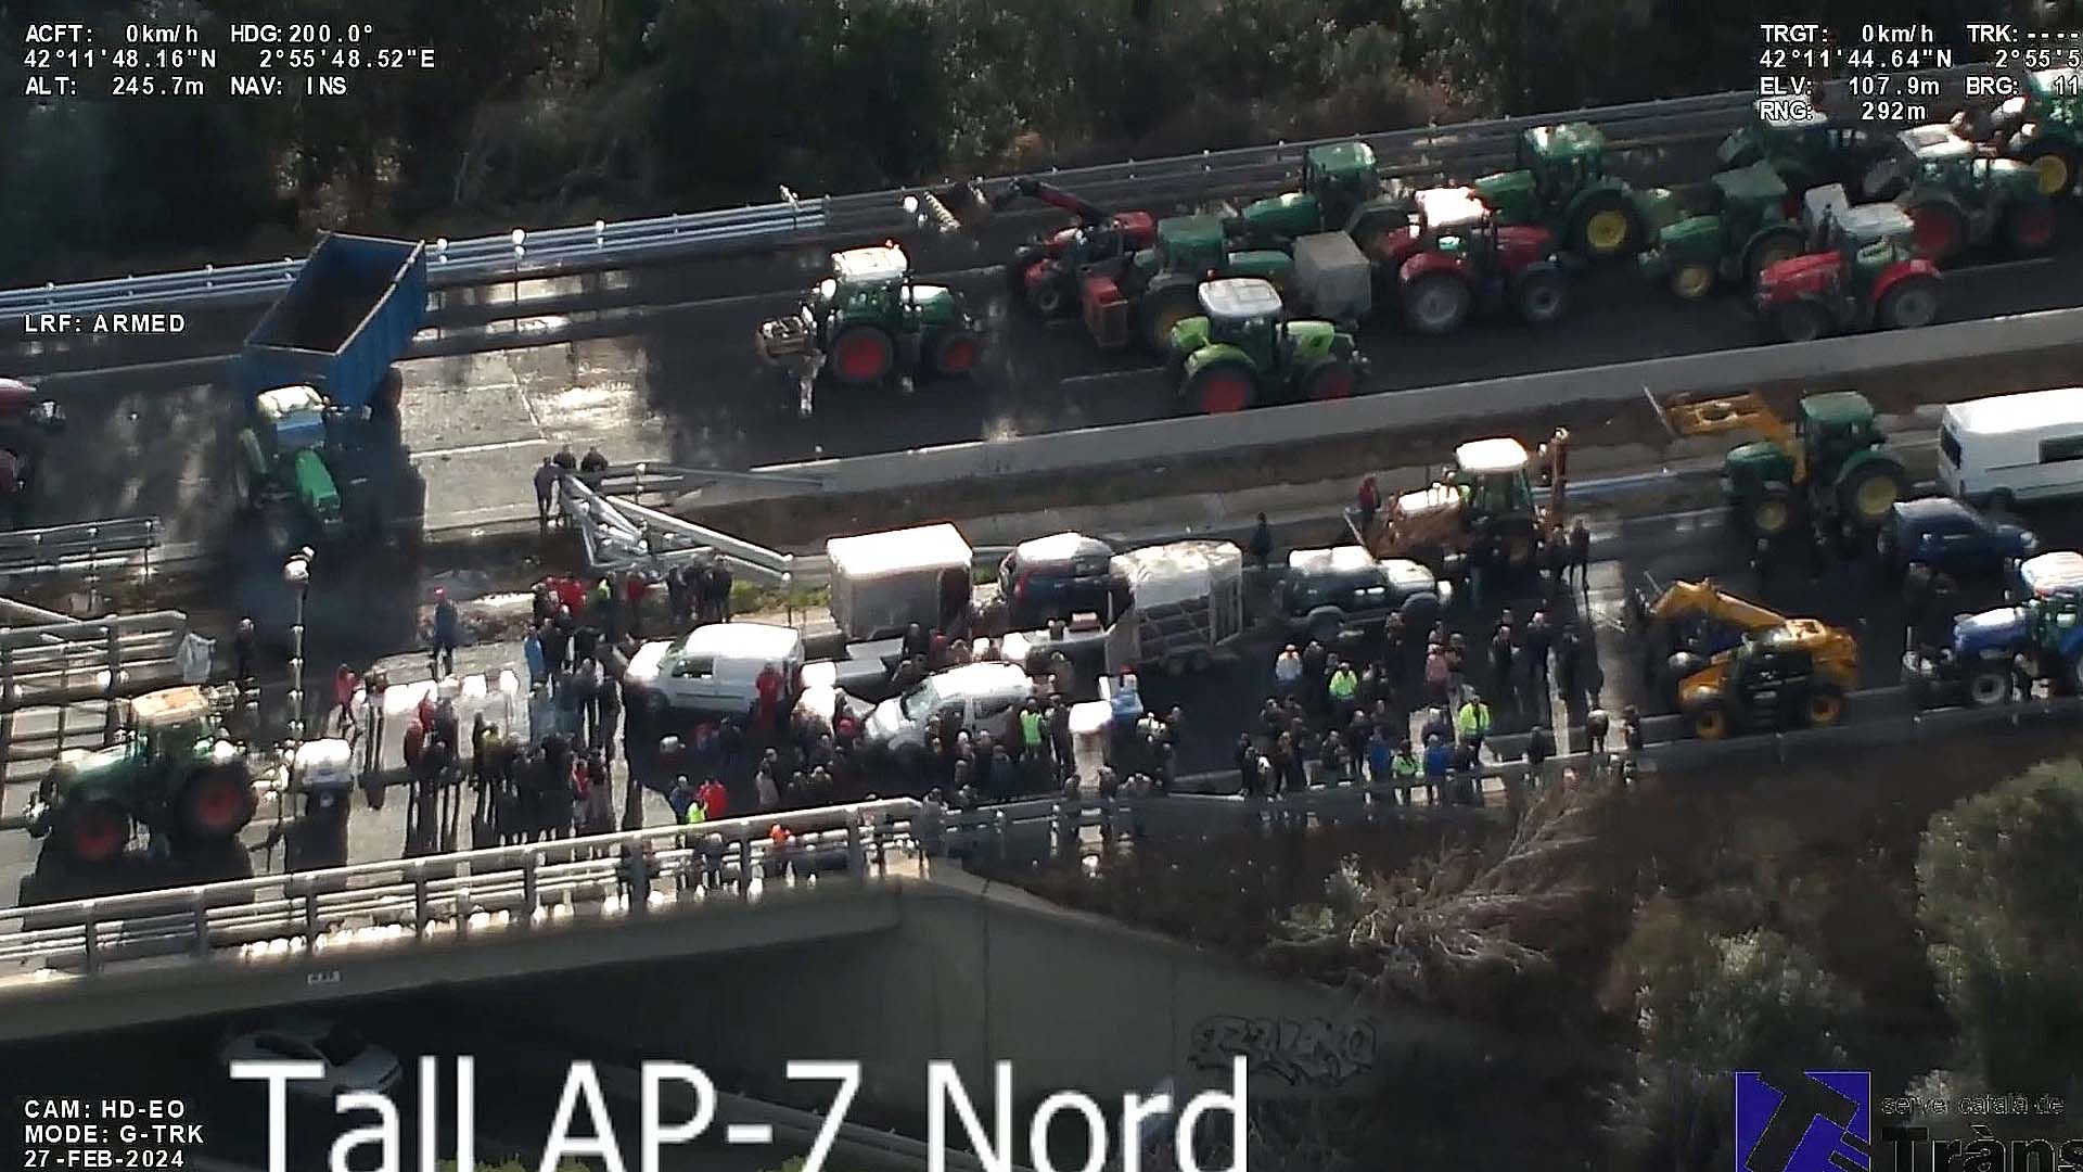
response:
[[[1129,607],[1106,632],[1108,674],[1206,667],[1244,634],[1244,551],[1187,540],[1114,555]]]

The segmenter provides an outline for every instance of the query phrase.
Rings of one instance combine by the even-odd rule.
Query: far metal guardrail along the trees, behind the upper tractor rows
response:
[[[1968,69],[1927,71],[1923,77],[1956,81],[1968,73]],[[1743,125],[1754,100],[1756,96],[1750,92],[1706,94],[1358,138],[1375,148],[1389,173],[1433,175],[1452,167],[1502,163],[1510,156],[1512,136],[1525,127],[1556,121],[1589,121],[1612,138],[1614,148],[1623,150],[1718,136]],[[1052,169],[1048,175],[1102,204],[1135,198],[1227,196],[1277,184],[1319,142],[1346,140],[1275,142],[1173,158]],[[821,196],[621,223],[594,221],[542,231],[515,229],[504,236],[471,240],[442,238],[429,242],[427,277],[433,286],[496,284],[698,252],[769,248],[823,236],[908,231],[919,227],[919,219],[904,209],[904,196],[919,190]],[[287,288],[300,267],[302,261],[283,259],[69,286],[17,288],[0,292],[0,315],[96,313],[142,304],[169,309],[212,300],[273,298]]]

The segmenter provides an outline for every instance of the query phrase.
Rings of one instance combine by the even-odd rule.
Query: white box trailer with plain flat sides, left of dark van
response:
[[[950,607],[969,607],[969,540],[954,526],[919,526],[831,538],[831,619],[848,640],[946,626]]]

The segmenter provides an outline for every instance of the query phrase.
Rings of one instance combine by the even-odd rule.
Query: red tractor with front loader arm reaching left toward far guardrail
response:
[[[1006,288],[1039,317],[1077,311],[1087,279],[1119,282],[1135,252],[1158,238],[1158,221],[1146,211],[1106,211],[1033,177],[1008,179],[998,194],[985,194],[981,184],[962,184],[925,196],[935,223],[962,231],[979,231],[996,213],[1021,200],[1037,200],[1077,217],[1069,227],[1021,244],[1006,261]]]

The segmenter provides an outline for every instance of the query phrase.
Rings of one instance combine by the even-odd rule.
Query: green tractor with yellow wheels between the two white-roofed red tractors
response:
[[[1787,217],[1787,184],[1771,165],[1721,171],[1708,192],[1710,211],[1664,227],[1637,259],[1648,279],[1700,300],[1718,282],[1756,282],[1766,267],[1802,254],[1802,225]]]

